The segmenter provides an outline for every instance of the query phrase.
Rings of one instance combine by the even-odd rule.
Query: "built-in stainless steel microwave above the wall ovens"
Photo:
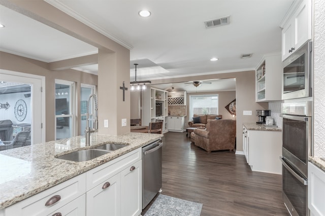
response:
[[[283,61],[282,100],[312,96],[312,42]]]

